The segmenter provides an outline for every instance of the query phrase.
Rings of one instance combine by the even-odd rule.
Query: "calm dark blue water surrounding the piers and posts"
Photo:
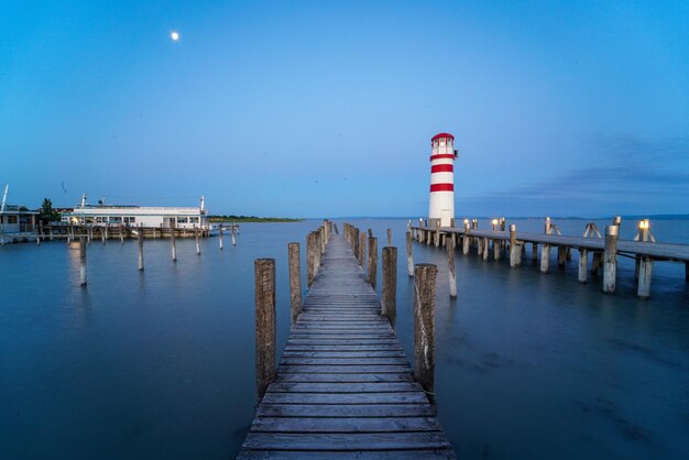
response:
[[[385,229],[394,231],[397,328],[411,357],[406,221],[351,221],[373,229],[379,247]],[[540,220],[516,223],[543,229]],[[586,222],[555,223],[581,234]],[[226,238],[219,251],[208,239],[200,256],[193,240],[177,240],[177,263],[167,240],[147,240],[143,273],[135,242],[94,242],[87,288],[78,286],[76,244],[0,248],[0,458],[233,458],[253,417],[253,260],[276,259],[282,350],[287,242],[304,242],[317,226],[242,224],[237,247]],[[624,222],[623,238],[634,230]],[[689,221],[656,221],[653,232],[689,243]],[[414,251],[415,262],[439,267],[436,391],[459,456],[687,458],[683,265],[657,263],[652,298],[639,300],[627,259],[617,294],[606,296],[600,277],[577,283],[576,251],[547,275],[528,254],[510,270],[458,253],[459,296],[450,302],[445,252],[418,243]]]

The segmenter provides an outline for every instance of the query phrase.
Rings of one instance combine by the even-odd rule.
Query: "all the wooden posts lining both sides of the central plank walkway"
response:
[[[315,277],[320,266],[320,256],[337,224],[325,220],[318,230],[308,233],[307,241],[307,284],[310,287],[313,273]],[[367,281],[375,289],[378,264],[378,239],[371,230],[367,234],[357,227],[344,223],[343,237],[352,249],[359,264],[364,267],[365,245],[368,242],[368,276]],[[386,317],[393,330],[396,324],[397,295],[397,248],[392,247],[392,230],[387,230],[389,245],[382,250],[382,297],[381,315]],[[434,264],[413,264],[412,233],[406,233],[407,261],[409,276],[414,277],[414,377],[420,383],[429,402],[435,408],[435,368],[436,368],[436,277],[438,269]],[[289,265],[291,325],[294,326],[302,313],[302,283],[299,243],[287,244]],[[275,380],[275,260],[256,259],[255,276],[255,368],[256,399],[261,402],[269,385]]]

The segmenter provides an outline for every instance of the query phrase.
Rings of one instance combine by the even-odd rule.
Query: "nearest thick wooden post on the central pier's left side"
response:
[[[256,399],[275,380],[275,260],[254,262],[256,307]]]

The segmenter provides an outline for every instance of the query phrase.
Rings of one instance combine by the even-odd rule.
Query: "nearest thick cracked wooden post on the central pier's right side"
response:
[[[414,379],[435,406],[436,372],[436,276],[431,264],[414,270]]]

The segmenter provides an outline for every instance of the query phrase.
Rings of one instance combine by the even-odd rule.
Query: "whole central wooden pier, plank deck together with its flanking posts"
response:
[[[416,266],[423,285],[415,304],[413,371],[391,326],[390,267],[383,275],[383,316],[372,280],[364,277],[359,231],[346,224],[343,236],[331,234],[330,227],[326,222],[309,236],[313,280],[303,306],[292,297],[296,320],[276,369],[274,261],[256,261],[260,404],[238,458],[453,459],[431,404],[435,265]],[[396,256],[391,248],[383,251],[384,261]]]

